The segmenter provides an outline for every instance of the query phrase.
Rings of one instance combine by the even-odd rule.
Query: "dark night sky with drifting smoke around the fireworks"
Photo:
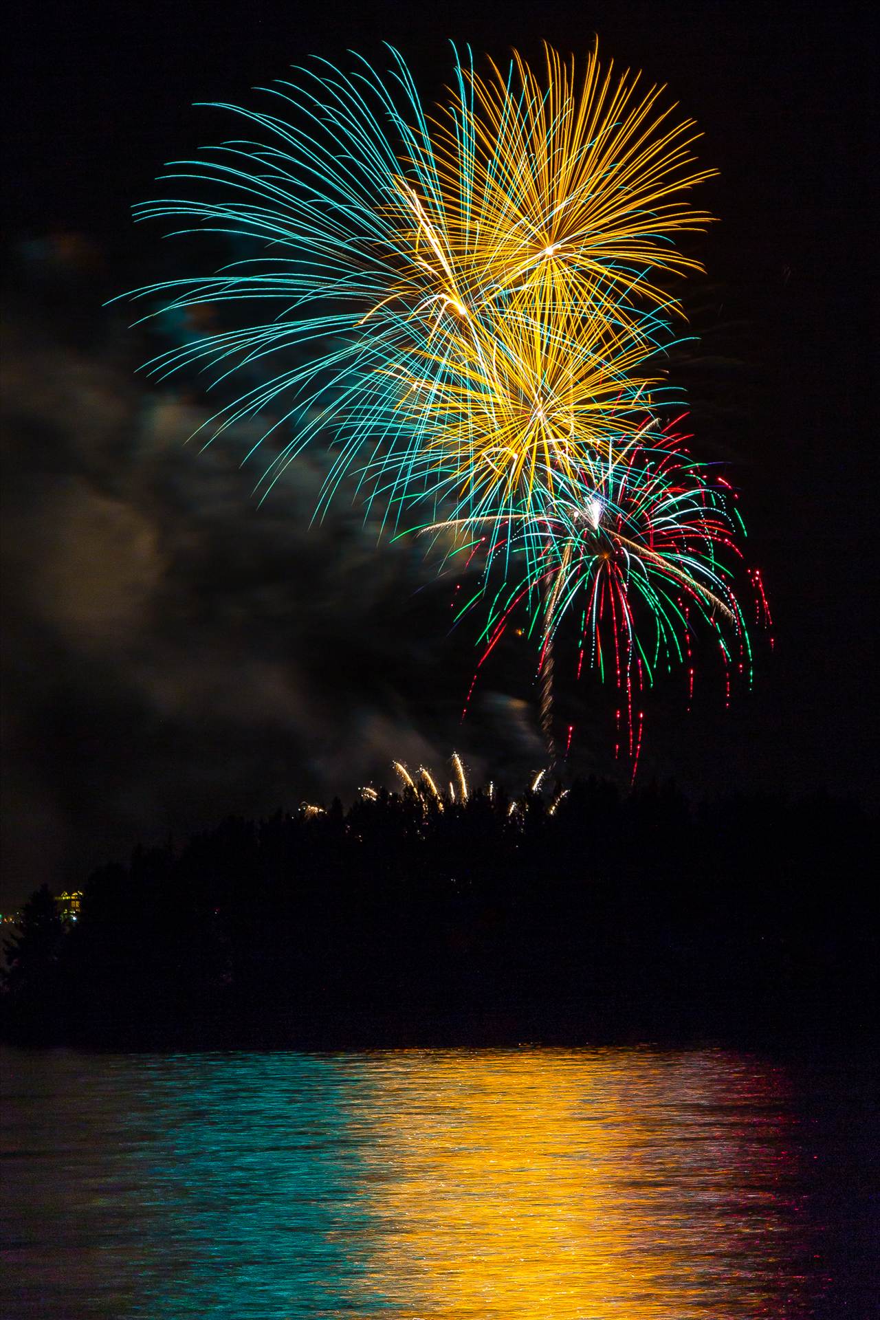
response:
[[[240,445],[185,445],[197,389],[135,376],[154,347],[104,300],[179,273],[132,226],[164,161],[227,131],[309,54],[398,45],[426,95],[446,41],[503,58],[542,38],[666,82],[720,170],[689,289],[693,447],[731,463],[776,616],[752,694],[707,663],[646,702],[641,774],[689,791],[827,787],[876,803],[876,120],[868,7],[549,3],[17,8],[5,127],[4,900],[82,879],[137,840],[230,810],[389,780],[393,755],[513,780],[541,764],[524,655],[497,657],[459,725],[476,652],[421,549],[376,546],[340,506],[309,525],[318,459],[256,508]],[[191,267],[186,263],[185,268]],[[603,770],[613,693],[561,693],[574,764]],[[567,705],[566,705],[567,704]]]

